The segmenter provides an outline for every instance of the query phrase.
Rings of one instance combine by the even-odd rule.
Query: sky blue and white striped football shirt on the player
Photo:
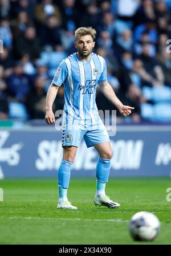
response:
[[[64,84],[64,113],[66,120],[84,120],[95,122],[98,115],[96,105],[96,87],[98,82],[107,81],[105,60],[91,53],[87,63],[79,59],[76,53],[60,62],[52,83]]]

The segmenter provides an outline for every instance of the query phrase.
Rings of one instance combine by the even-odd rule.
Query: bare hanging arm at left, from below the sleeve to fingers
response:
[[[48,92],[46,96],[46,116],[45,116],[45,120],[47,124],[55,123],[55,116],[52,111],[52,105],[56,98],[58,89],[59,87],[53,83],[51,83],[50,87],[48,88]]]

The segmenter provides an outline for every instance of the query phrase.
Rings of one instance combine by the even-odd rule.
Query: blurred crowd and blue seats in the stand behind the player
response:
[[[44,119],[56,68],[76,51],[75,29],[92,26],[109,83],[135,107],[127,120],[171,121],[170,17],[170,0],[0,0],[0,119]],[[115,109],[99,88],[96,103]],[[60,87],[54,111],[63,105]]]

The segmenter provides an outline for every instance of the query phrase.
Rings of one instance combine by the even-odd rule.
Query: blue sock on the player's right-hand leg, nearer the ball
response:
[[[102,159],[99,157],[96,166],[96,196],[105,195],[105,184],[108,182],[108,177],[111,169],[111,159]]]

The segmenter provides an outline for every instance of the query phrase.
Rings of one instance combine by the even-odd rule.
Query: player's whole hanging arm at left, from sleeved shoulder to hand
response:
[[[64,81],[67,79],[68,76],[68,69],[64,60],[60,62],[59,67],[56,70],[54,79],[50,87],[48,88],[47,96],[46,96],[46,116],[45,120],[47,124],[54,124],[55,123],[55,116],[52,111],[52,105],[56,98],[58,89]]]

